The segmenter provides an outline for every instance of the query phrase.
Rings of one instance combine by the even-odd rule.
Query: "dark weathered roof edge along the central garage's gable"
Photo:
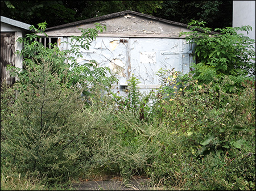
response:
[[[167,23],[167,24],[172,24],[172,25],[179,26],[179,27],[184,27],[184,28],[188,27],[187,24],[173,22],[171,20],[161,19],[161,18],[158,18],[158,17],[155,17],[155,16],[142,14],[140,12],[128,11],[127,10],[127,11],[115,12],[115,13],[104,15],[104,16],[98,16],[96,18],[79,20],[79,21],[73,22],[73,23],[62,24],[62,25],[56,26],[56,27],[50,27],[50,28],[47,28],[46,31],[51,31],[52,29],[61,29],[61,28],[66,28],[66,27],[73,27],[73,26],[77,26],[77,25],[80,25],[80,24],[95,23],[95,22],[99,22],[99,21],[102,21],[102,20],[106,20],[106,19],[112,19],[112,18],[115,18],[115,17],[118,17],[118,16],[125,16],[127,14],[137,15],[137,16],[141,16],[141,17],[144,17],[144,18],[147,18],[147,19],[152,19],[152,20],[156,20],[156,21],[159,21],[159,22]]]

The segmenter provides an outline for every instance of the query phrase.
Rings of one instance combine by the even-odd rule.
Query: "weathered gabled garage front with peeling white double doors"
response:
[[[89,50],[81,50],[83,57],[77,61],[95,60],[117,71],[119,83],[113,90],[126,88],[132,74],[139,79],[138,88],[143,92],[160,87],[156,73],[161,68],[189,72],[192,45],[185,36],[179,36],[181,31],[189,31],[183,23],[122,11],[47,28],[46,33],[50,39],[57,38],[60,49],[67,49],[61,42],[70,41],[72,35],[80,36],[79,28],[94,28],[94,23],[106,26],[106,31],[98,34]]]

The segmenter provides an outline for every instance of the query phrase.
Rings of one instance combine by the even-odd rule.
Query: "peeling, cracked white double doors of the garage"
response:
[[[77,62],[95,60],[99,66],[109,67],[117,74],[119,85],[127,84],[134,74],[141,91],[159,87],[156,73],[161,68],[188,73],[192,62],[191,46],[184,39],[97,37],[89,50],[81,52]]]

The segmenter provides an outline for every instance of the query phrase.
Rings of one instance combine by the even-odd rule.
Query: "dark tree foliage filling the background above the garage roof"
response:
[[[125,10],[185,24],[194,19],[212,28],[232,26],[232,1],[1,1],[2,16],[34,26],[46,21],[53,27]]]

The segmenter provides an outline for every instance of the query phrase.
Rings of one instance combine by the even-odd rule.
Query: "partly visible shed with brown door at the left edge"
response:
[[[15,54],[16,50],[22,50],[22,44],[16,40],[29,32],[29,27],[30,24],[1,16],[1,86],[5,80],[7,84],[15,82],[6,70],[7,65],[22,68],[22,56]]]

